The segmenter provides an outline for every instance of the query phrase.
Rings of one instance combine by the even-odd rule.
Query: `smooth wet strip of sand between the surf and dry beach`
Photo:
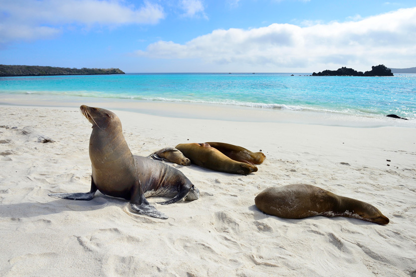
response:
[[[324,126],[342,126],[358,128],[406,127],[416,128],[416,121],[397,120],[380,115],[352,115],[342,112],[324,112],[315,110],[288,110],[245,107],[238,105],[219,105],[191,102],[139,101],[130,99],[111,99],[93,97],[65,97],[41,94],[3,94],[0,107],[60,107],[79,108],[88,103],[92,107],[109,110],[134,112],[169,118],[193,118],[208,120],[227,120],[250,123],[295,123]]]

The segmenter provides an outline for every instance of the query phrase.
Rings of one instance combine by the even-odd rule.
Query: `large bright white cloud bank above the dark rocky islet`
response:
[[[337,66],[370,70],[371,65],[381,63],[397,67],[399,63],[414,62],[415,33],[416,8],[408,8],[359,21],[306,27],[271,24],[249,30],[218,29],[185,44],[158,41],[136,54],[157,59],[198,59],[210,68],[227,65],[239,71],[285,68],[308,72]]]

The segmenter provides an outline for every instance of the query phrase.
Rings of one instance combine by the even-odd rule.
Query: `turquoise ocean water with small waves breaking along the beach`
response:
[[[393,77],[310,73],[167,73],[0,77],[0,104],[10,96],[189,102],[416,120],[416,74]]]

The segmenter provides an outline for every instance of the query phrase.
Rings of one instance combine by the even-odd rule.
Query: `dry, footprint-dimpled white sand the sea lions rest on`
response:
[[[134,154],[224,141],[267,158],[247,176],[175,165],[201,198],[149,198],[170,218],[137,216],[100,193],[88,202],[47,195],[89,189],[91,128],[77,108],[0,106],[1,276],[416,276],[415,128],[114,112]],[[55,142],[23,135],[26,126]],[[292,183],[371,203],[390,223],[287,220],[254,206],[264,188]]]

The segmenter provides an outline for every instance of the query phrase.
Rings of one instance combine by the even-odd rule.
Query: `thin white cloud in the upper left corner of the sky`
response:
[[[0,0],[0,14],[0,43],[51,37],[65,24],[155,24],[165,17],[159,4],[136,8],[122,0]]]

